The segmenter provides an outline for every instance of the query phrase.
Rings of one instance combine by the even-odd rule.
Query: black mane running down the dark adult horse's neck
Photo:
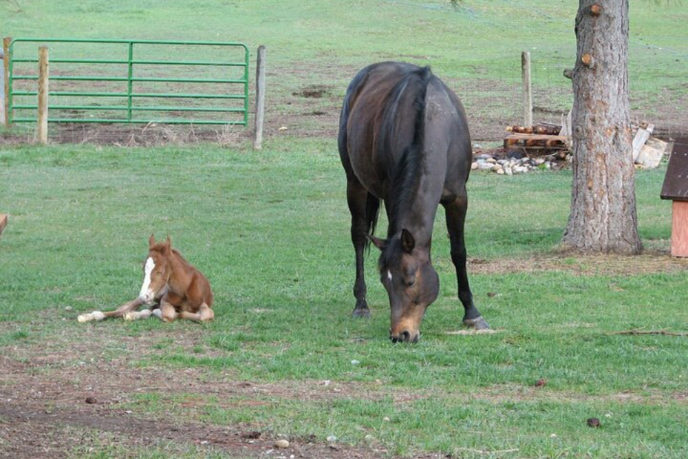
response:
[[[394,170],[394,175],[391,177],[391,193],[388,197],[389,228],[387,229],[387,237],[392,237],[401,230],[401,228],[396,228],[398,217],[406,210],[405,204],[416,195],[420,184],[420,173],[424,167],[425,94],[432,76],[430,67],[422,67],[406,74],[394,87],[390,96],[389,106],[385,111],[382,129],[383,136],[380,139],[380,142],[383,142],[383,144],[380,147],[387,149],[390,148],[390,136],[395,135],[396,126],[394,125],[394,119],[397,116],[396,112],[399,109],[410,109],[411,113],[415,112],[413,140],[405,147],[404,153],[402,153],[402,157]],[[411,107],[400,107],[401,101],[404,100],[403,96],[409,91],[413,94],[413,104]]]

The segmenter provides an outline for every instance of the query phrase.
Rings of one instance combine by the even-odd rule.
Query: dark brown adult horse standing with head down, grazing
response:
[[[463,323],[488,328],[473,304],[466,275],[464,220],[471,138],[458,97],[429,67],[383,62],[358,72],[347,88],[338,147],[347,177],[356,252],[354,317],[369,317],[363,253],[380,249],[378,268],[391,307],[390,339],[416,342],[426,308],[438,297],[430,246],[438,204],[444,206]],[[380,200],[387,239],[374,237]]]

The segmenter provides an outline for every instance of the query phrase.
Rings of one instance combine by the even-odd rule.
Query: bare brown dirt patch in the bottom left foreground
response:
[[[167,330],[155,330],[142,337],[114,338],[97,327],[85,327],[79,341],[65,335],[11,348],[0,356],[0,457],[55,459],[118,447],[127,451],[122,457],[136,457],[141,448],[165,453],[207,449],[228,458],[386,455],[375,447],[330,445],[316,436],[290,438],[290,447],[276,451],[277,435],[265,425],[213,425],[203,417],[210,407],[260,406],[268,400],[332,400],[367,392],[371,398],[390,396],[381,383],[377,388],[331,381],[263,384],[235,381],[231,371],[132,365],[134,356],[155,361],[160,352],[155,343],[171,336]],[[175,345],[184,348],[202,340],[200,332],[177,332],[174,337]],[[121,356],[106,357],[115,343]],[[160,403],[151,412],[142,396],[159,397]],[[419,395],[398,392],[393,397],[405,403]]]

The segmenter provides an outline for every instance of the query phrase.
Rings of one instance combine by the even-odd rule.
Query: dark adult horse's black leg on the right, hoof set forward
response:
[[[490,328],[473,304],[473,294],[466,273],[466,244],[464,243],[464,222],[468,209],[468,198],[460,195],[451,202],[442,202],[447,217],[447,231],[451,242],[451,261],[456,269],[456,280],[459,287],[459,299],[464,305],[464,325],[484,330]]]

